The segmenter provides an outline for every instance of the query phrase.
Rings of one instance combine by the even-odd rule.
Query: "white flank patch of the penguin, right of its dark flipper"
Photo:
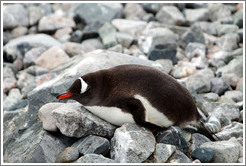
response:
[[[134,96],[134,98],[140,100],[144,106],[146,122],[155,124],[160,127],[169,127],[173,125],[173,122],[170,121],[163,113],[154,108],[145,97],[137,94]]]

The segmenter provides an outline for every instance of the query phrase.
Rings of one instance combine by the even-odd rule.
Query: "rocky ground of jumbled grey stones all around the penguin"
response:
[[[242,4],[4,4],[4,162],[243,162]],[[116,127],[56,95],[83,74],[152,66],[217,135]]]

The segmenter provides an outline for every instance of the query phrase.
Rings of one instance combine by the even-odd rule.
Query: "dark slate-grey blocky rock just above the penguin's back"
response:
[[[148,58],[150,60],[158,60],[158,59],[170,59],[173,64],[177,63],[176,59],[176,50],[173,49],[153,49],[150,51]]]

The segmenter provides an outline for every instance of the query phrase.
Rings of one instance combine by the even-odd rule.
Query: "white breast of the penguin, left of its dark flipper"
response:
[[[116,126],[121,126],[124,123],[135,123],[132,114],[122,112],[117,107],[85,106],[85,108]]]

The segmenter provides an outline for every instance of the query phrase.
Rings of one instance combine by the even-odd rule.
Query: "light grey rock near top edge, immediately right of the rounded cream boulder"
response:
[[[208,20],[209,10],[207,8],[199,8],[199,9],[185,9],[184,15],[186,20],[190,23],[194,23],[197,21],[207,21]]]

